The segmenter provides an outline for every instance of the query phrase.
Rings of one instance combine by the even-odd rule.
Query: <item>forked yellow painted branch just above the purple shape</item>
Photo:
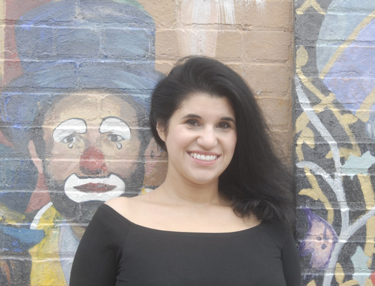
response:
[[[327,209],[327,222],[329,224],[332,224],[333,222],[333,209],[332,205],[327,199],[326,195],[321,190],[317,178],[315,178],[314,174],[310,172],[310,169],[308,167],[305,167],[305,174],[307,179],[309,180],[309,183],[311,185],[311,188],[309,189],[302,189],[298,193],[299,195],[306,195],[311,197],[314,200],[320,200],[324,207]]]

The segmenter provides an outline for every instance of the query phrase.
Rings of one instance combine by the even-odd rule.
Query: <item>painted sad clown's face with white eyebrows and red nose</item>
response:
[[[100,203],[141,190],[138,104],[124,98],[96,92],[58,98],[30,142],[31,149],[42,146],[34,163],[43,158],[49,196],[68,221],[88,221]]]

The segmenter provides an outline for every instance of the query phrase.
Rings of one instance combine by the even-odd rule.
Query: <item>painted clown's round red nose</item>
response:
[[[97,176],[107,170],[104,155],[95,147],[87,148],[80,159],[80,170],[84,175]]]

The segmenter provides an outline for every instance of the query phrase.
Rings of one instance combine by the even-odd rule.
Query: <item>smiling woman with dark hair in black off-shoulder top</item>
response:
[[[99,207],[71,285],[300,285],[293,179],[244,80],[182,59],[151,95],[150,124],[165,182]]]

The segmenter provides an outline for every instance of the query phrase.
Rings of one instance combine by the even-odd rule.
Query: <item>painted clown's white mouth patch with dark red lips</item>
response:
[[[66,196],[76,203],[106,202],[123,194],[125,183],[114,174],[105,178],[79,178],[72,174],[65,181],[64,191]]]

